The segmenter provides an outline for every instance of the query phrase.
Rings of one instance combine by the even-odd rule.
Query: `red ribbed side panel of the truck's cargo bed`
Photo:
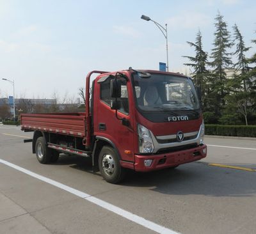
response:
[[[21,114],[21,130],[40,130],[63,135],[86,136],[85,113]]]

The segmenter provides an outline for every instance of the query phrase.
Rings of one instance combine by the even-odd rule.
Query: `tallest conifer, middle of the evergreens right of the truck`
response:
[[[214,93],[214,96],[218,97],[220,103],[216,103],[218,107],[215,109],[218,110],[220,115],[220,111],[225,105],[224,97],[225,93],[225,84],[227,74],[225,73],[225,68],[230,67],[232,65],[232,61],[230,56],[232,55],[230,52],[227,52],[227,49],[232,47],[233,43],[230,42],[230,33],[227,30],[227,24],[223,21],[223,16],[218,15],[215,18],[216,23],[214,24],[216,27],[216,31],[214,33],[214,48],[212,49],[212,53],[210,58],[213,60],[211,61],[212,70],[212,77],[209,80],[212,86],[211,92]]]

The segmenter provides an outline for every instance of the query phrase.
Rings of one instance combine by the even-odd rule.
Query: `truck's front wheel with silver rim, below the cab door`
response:
[[[103,146],[99,154],[99,169],[102,177],[109,183],[124,179],[125,169],[121,167],[118,155],[109,146]]]

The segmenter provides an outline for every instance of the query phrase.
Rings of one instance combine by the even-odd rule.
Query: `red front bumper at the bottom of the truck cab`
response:
[[[181,150],[172,153],[162,153],[159,155],[134,155],[134,170],[154,171],[157,169],[172,168],[174,166],[178,166],[179,164],[203,159],[204,157],[206,157],[206,154],[207,146],[203,144],[202,146],[197,146],[196,148]],[[144,165],[144,160],[147,159],[152,159],[152,163],[150,166]]]

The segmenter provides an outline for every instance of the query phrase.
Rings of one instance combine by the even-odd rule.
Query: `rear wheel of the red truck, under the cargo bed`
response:
[[[36,139],[36,158],[42,164],[48,164],[51,161],[51,149],[49,149],[45,143],[44,137],[38,137]]]

